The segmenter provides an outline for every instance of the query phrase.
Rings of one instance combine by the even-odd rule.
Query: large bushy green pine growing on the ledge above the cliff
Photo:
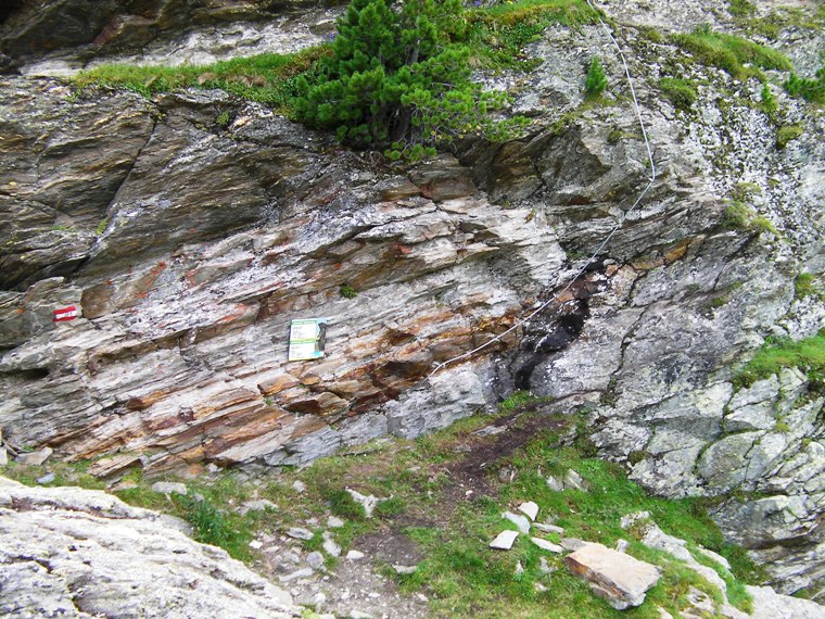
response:
[[[470,81],[470,51],[452,40],[462,10],[460,0],[353,0],[332,55],[302,85],[299,119],[358,148],[389,147],[392,159],[420,159],[468,134],[511,137],[524,119],[488,116],[506,96]]]

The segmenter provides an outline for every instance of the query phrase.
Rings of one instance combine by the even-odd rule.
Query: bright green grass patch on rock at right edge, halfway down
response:
[[[809,389],[822,391],[825,387],[825,329],[796,342],[786,339],[766,342],[736,375],[734,384],[750,387],[785,367],[800,368],[811,381]]]

